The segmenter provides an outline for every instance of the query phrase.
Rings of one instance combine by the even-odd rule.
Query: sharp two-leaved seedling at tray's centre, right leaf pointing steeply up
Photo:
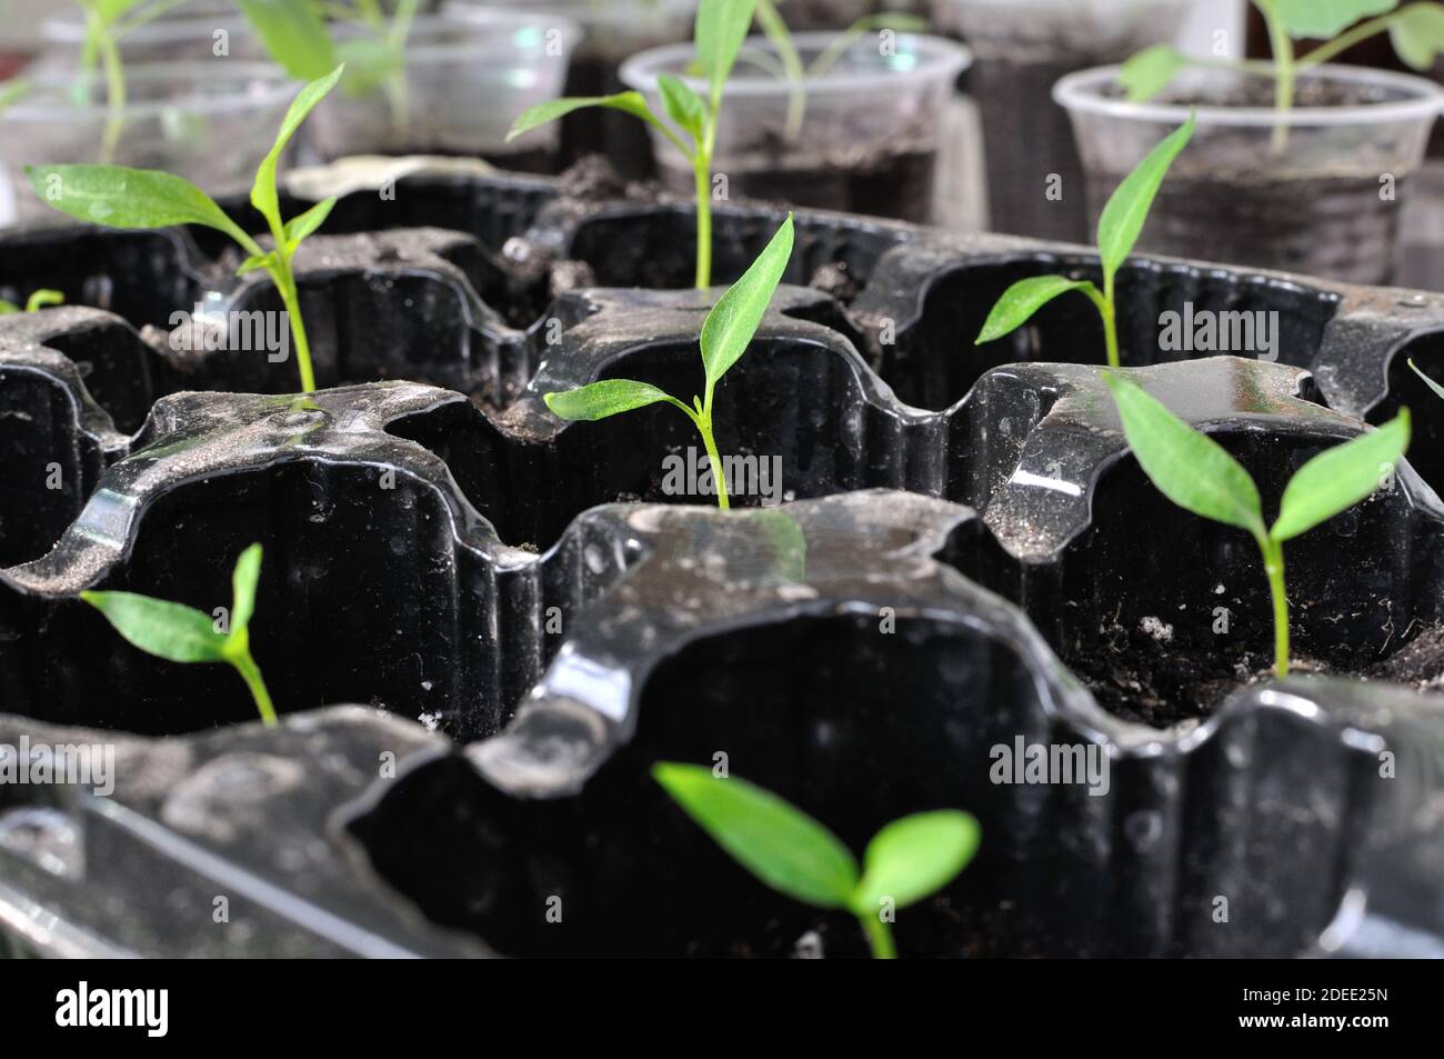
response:
[[[692,406],[677,400],[666,390],[650,383],[631,379],[604,379],[575,390],[547,393],[543,400],[552,412],[567,422],[595,422],[621,412],[647,407],[666,402],[682,410],[702,435],[708,458],[712,462],[712,478],[716,481],[718,507],[731,507],[726,491],[726,475],[722,472],[722,458],[718,455],[716,439],[712,436],[712,399],[716,384],[747,353],[752,335],[762,322],[762,314],[773,301],[773,293],[783,279],[787,261],[793,256],[793,215],[788,214],[773,241],[758,254],[751,267],[712,306],[702,324],[702,368],[706,384],[702,397],[693,397]]]

